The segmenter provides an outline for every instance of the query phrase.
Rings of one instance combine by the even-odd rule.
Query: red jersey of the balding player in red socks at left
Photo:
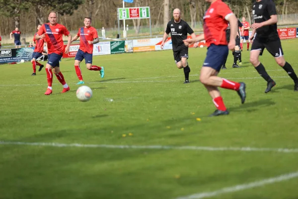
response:
[[[63,54],[64,43],[62,36],[68,36],[70,32],[68,29],[59,23],[51,25],[50,23],[44,23],[38,30],[37,34],[42,35],[46,33],[45,40],[48,46],[48,54],[56,53]]]

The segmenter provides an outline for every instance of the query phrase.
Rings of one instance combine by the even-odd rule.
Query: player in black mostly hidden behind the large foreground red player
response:
[[[241,28],[241,35],[242,35],[243,31],[244,31],[244,26],[242,25],[242,23],[238,19],[238,29],[239,29],[239,27]],[[225,34],[226,34],[226,41],[229,42],[229,40],[230,40],[230,26],[229,26],[229,23],[227,23],[227,28],[225,30]],[[233,57],[234,57],[234,62],[233,62],[232,67],[233,68],[240,68],[237,65],[237,60],[238,59],[239,59],[239,64],[242,64],[241,63],[242,61],[241,61],[240,33],[239,33],[239,31],[237,32],[236,44],[235,44],[235,48],[232,52],[233,52],[232,54],[233,54]],[[227,59],[227,57],[226,57],[226,59]],[[222,69],[226,69],[226,67],[225,67],[226,59],[224,60],[224,65],[223,65]]]

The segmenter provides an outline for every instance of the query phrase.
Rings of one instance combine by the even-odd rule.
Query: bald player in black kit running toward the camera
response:
[[[178,69],[183,68],[184,76],[185,76],[184,84],[187,84],[189,83],[190,68],[187,63],[188,46],[184,45],[183,40],[187,39],[187,33],[190,34],[192,38],[196,38],[196,35],[194,31],[191,29],[191,27],[184,20],[182,20],[180,16],[181,16],[181,11],[178,8],[174,9],[173,11],[174,19],[169,21],[166,26],[166,30],[163,34],[163,39],[162,39],[160,48],[163,49],[164,42],[168,37],[169,33],[171,33],[174,59]],[[198,43],[195,43],[194,47],[197,48]]]

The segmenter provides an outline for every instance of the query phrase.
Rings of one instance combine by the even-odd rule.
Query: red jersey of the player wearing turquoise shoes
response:
[[[80,37],[79,49],[85,53],[93,53],[93,44],[89,44],[88,41],[93,41],[93,39],[98,38],[97,30],[93,27],[80,27],[76,34]]]

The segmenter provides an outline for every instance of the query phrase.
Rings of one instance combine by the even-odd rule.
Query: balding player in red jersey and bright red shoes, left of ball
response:
[[[46,64],[46,73],[48,79],[48,89],[45,95],[52,94],[52,83],[53,83],[53,72],[52,69],[63,85],[63,91],[61,93],[66,93],[70,90],[70,87],[66,84],[64,77],[60,71],[59,60],[62,58],[64,43],[62,36],[68,36],[67,46],[65,48],[65,53],[69,53],[70,45],[72,41],[72,35],[68,29],[59,23],[57,23],[57,12],[51,11],[48,17],[50,23],[43,24],[37,34],[35,39],[45,39],[48,46],[48,63]]]

